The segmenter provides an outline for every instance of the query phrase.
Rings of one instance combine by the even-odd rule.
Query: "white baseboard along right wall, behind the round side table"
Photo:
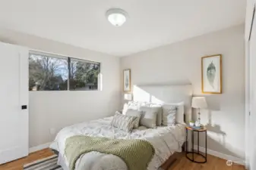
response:
[[[198,145],[194,145],[194,149],[198,148]],[[200,152],[205,152],[205,147],[199,147]],[[225,153],[220,153],[215,150],[207,149],[207,154],[210,154],[212,156],[219,157],[221,159],[231,160],[232,162],[235,162],[239,165],[245,165],[245,160],[237,158],[235,156],[226,155]]]

